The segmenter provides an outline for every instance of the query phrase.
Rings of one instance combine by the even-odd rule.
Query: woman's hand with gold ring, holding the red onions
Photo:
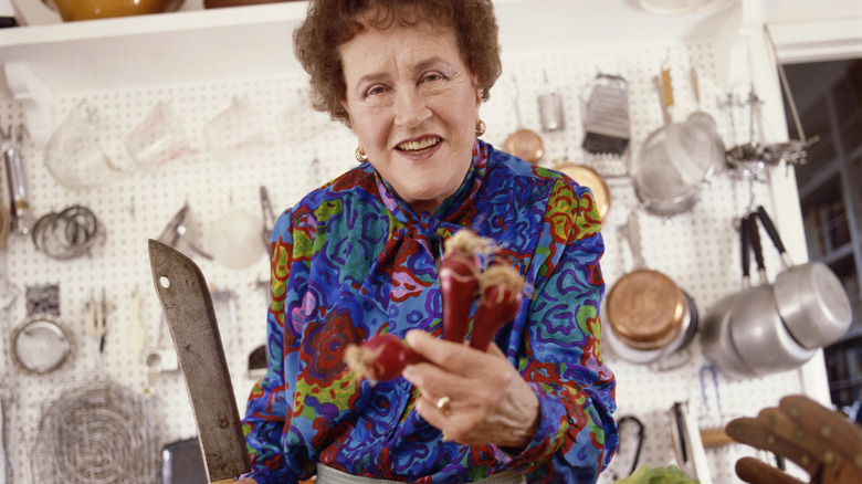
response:
[[[406,339],[430,361],[408,366],[402,373],[420,389],[417,411],[446,439],[505,448],[533,440],[538,398],[496,345],[482,353],[420,330]]]

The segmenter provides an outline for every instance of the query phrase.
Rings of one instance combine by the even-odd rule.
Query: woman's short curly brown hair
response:
[[[453,29],[461,55],[476,76],[482,101],[490,98],[491,87],[502,72],[491,0],[312,0],[293,41],[296,59],[311,76],[315,109],[349,123],[341,106],[347,86],[338,48],[365,28],[360,18],[375,29],[396,22],[416,25],[427,20],[435,28]]]

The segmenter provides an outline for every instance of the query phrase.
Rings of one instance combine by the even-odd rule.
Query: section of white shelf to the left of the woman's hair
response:
[[[4,29],[0,63],[27,64],[54,93],[281,74],[298,69],[291,34],[304,12],[286,2]]]

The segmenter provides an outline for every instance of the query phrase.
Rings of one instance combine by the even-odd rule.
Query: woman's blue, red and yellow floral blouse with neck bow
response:
[[[461,228],[516,261],[529,304],[496,344],[539,400],[518,454],[445,441],[403,378],[356,381],[345,348],[420,328],[441,335],[438,263]],[[528,482],[595,482],[617,449],[616,380],[599,353],[603,242],[589,190],[476,140],[462,187],[417,214],[369,164],[281,215],[272,243],[269,366],[244,418],[251,476],[295,483],[315,463],[353,475],[473,482],[504,470]]]

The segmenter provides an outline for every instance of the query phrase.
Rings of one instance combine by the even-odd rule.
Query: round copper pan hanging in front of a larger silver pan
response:
[[[630,272],[613,285],[607,312],[620,339],[643,349],[670,345],[688,317],[680,287],[666,275],[646,269]]]

